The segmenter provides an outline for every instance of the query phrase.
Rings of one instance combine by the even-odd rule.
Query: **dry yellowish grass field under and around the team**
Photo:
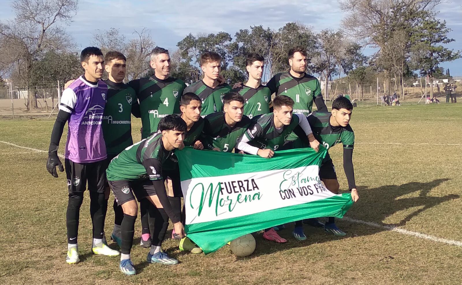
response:
[[[80,215],[81,262],[67,265],[64,173],[49,175],[45,152],[0,143],[0,284],[461,284],[461,111],[460,104],[354,110],[360,198],[349,219],[337,223],[346,237],[305,226],[308,239],[300,242],[289,226],[281,232],[286,244],[255,235],[255,253],[238,260],[226,247],[207,256],[184,254],[168,239],[164,249],[181,261],[171,267],[148,264],[147,250],[135,245],[138,274],[131,277],[118,272],[118,257],[91,255],[88,194]],[[53,123],[0,120],[0,141],[47,150]],[[135,120],[135,141],[139,127]],[[341,146],[329,152],[346,189]],[[113,217],[109,207],[108,233]],[[139,244],[140,219],[136,231]]]

